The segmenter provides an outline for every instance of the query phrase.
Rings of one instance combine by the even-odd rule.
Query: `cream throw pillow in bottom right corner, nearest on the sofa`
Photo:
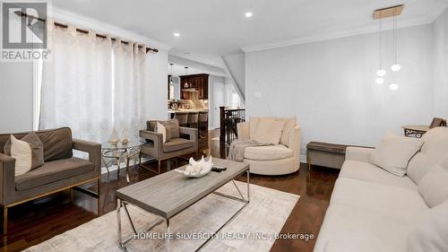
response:
[[[408,252],[448,251],[448,201],[427,211],[408,235]]]

